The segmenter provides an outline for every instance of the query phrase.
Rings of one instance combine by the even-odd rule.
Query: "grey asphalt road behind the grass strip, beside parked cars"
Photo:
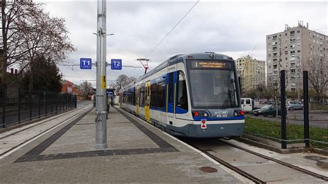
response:
[[[278,118],[254,116],[251,113],[247,113],[246,116],[280,122],[280,116]],[[304,113],[303,110],[288,111],[287,123],[293,125],[303,125]],[[309,111],[309,124],[311,127],[328,129],[328,112],[325,111]]]

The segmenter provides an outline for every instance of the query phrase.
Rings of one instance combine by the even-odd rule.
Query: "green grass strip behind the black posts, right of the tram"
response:
[[[253,136],[259,136],[262,138],[268,138],[280,142],[277,139],[281,139],[281,127],[280,122],[261,120],[258,118],[245,118],[244,132]],[[287,124],[287,140],[298,140],[304,138],[304,127],[301,125]],[[310,127],[310,142],[313,147],[328,148],[328,129],[322,129],[317,127]],[[318,140],[327,142],[327,144],[321,142],[315,142],[312,140]],[[303,142],[303,141],[295,141]],[[287,142],[293,143],[293,142]]]

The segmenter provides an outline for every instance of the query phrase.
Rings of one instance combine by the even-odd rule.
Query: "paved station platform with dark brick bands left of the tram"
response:
[[[103,150],[94,148],[95,110],[91,106],[53,129],[42,126],[33,127],[32,133],[44,134],[31,136],[33,139],[25,145],[19,144],[26,135],[24,131],[12,133],[18,141],[12,147],[17,148],[3,151],[6,154],[0,159],[0,183],[249,182],[118,108],[110,108],[107,149]]]

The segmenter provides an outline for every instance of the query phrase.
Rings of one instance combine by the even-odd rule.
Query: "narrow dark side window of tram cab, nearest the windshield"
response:
[[[177,89],[177,107],[188,111],[187,85],[185,83],[185,73],[183,73],[183,71],[179,71],[179,82]]]

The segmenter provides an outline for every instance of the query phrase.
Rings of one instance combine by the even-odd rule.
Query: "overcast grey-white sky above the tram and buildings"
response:
[[[72,43],[78,48],[69,56],[95,61],[96,1],[45,1],[55,17],[64,17]],[[107,62],[122,59],[123,65],[140,66],[144,58],[185,15],[196,1],[108,1]],[[328,33],[328,3],[321,2],[222,2],[200,1],[173,32],[149,55],[149,69],[179,53],[215,51],[234,59],[248,55],[266,60],[266,35],[284,31],[284,24],[297,26],[298,20],[309,22],[309,29]],[[252,51],[253,50],[253,51]],[[60,66],[65,80],[80,84],[89,80],[95,86],[95,67]],[[143,68],[111,71],[107,79],[120,74],[139,77]],[[107,82],[110,84],[110,81]]]

